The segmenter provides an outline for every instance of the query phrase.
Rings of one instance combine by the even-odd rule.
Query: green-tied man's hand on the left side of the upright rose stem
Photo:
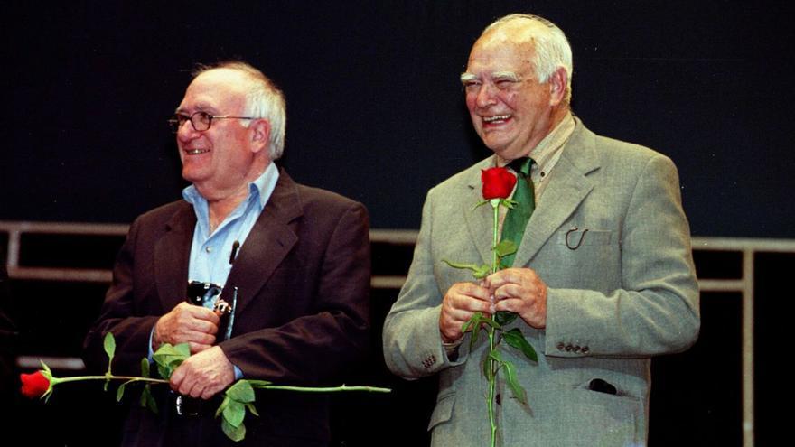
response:
[[[494,312],[489,290],[481,284],[453,284],[442,301],[439,315],[439,331],[445,343],[452,343],[463,337],[461,327],[472,318],[474,312],[491,314]]]

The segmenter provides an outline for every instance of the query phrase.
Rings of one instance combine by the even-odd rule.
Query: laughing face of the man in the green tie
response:
[[[560,79],[538,83],[533,57],[531,40],[487,33],[475,42],[461,76],[475,131],[506,160],[527,156],[566,113]]]

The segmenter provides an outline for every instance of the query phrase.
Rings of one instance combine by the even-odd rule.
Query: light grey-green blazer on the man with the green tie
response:
[[[493,163],[484,160],[428,192],[407,283],[384,325],[384,355],[395,374],[439,377],[428,426],[434,446],[490,439],[486,338],[470,351],[467,335],[449,359],[438,320],[447,289],[472,280],[441,259],[490,263],[491,210],[472,207],[481,200],[480,172]],[[577,120],[547,182],[514,261],[549,287],[547,328],[521,319],[509,326],[543,355],[535,363],[502,349],[517,366],[528,405],[499,384],[501,445],[643,445],[650,357],[687,349],[700,325],[678,173],[662,154],[594,135]],[[589,389],[594,379],[615,393]]]

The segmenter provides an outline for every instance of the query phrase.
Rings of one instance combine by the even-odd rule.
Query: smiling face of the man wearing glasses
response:
[[[210,115],[244,116],[247,85],[246,75],[239,70],[205,71],[188,86],[177,113],[191,116],[202,111]],[[185,122],[177,132],[182,177],[208,200],[237,193],[269,163],[262,135],[257,135],[261,126],[244,124],[246,121],[241,119],[213,119],[210,128],[200,132]]]

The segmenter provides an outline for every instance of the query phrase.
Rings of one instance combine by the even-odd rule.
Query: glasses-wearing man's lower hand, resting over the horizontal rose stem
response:
[[[218,346],[194,354],[174,369],[171,388],[185,396],[209,399],[235,381],[235,368]]]

